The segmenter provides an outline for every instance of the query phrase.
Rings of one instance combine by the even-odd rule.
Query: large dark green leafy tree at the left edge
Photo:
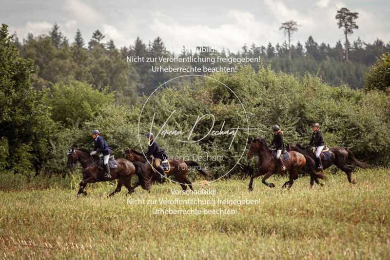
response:
[[[42,156],[54,124],[32,85],[34,62],[20,57],[7,27],[2,24],[0,29],[0,139],[8,142],[10,166],[22,171]]]

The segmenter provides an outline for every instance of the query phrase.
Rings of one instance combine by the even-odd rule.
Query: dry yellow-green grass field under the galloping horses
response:
[[[355,185],[345,174],[329,174],[323,187],[312,190],[308,177],[295,181],[290,191],[281,189],[287,178],[271,177],[276,188],[258,178],[253,192],[247,189],[249,179],[220,180],[203,188],[215,189],[215,195],[173,195],[171,189],[180,187],[168,183],[152,186],[149,194],[139,188],[126,196],[123,188],[110,199],[105,196],[114,183],[89,186],[88,196],[76,199],[76,177],[14,179],[0,176],[1,258],[390,258],[390,169],[359,170]],[[176,198],[208,204],[158,201]],[[144,204],[128,204],[137,199]],[[213,205],[218,199],[259,203]],[[146,205],[148,200],[157,204]],[[236,214],[153,214],[168,208]]]

